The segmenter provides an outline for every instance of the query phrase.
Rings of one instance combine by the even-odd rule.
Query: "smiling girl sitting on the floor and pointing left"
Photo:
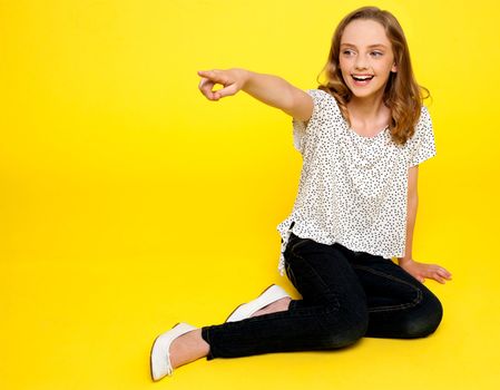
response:
[[[435,155],[434,136],[398,20],[374,7],[347,14],[324,70],[326,81],[307,91],[239,68],[198,72],[209,100],[244,90],[293,117],[303,167],[277,230],[280,270],[302,300],[272,285],[224,324],[177,324],[155,340],[154,380],[203,357],[423,338],[440,324],[441,303],[422,283],[451,274],[412,259],[418,168]],[[213,91],[215,84],[224,88]]]

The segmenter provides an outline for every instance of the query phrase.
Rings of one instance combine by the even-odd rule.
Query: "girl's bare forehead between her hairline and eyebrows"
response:
[[[342,43],[350,43],[352,46],[391,45],[384,27],[371,19],[356,19],[351,21],[342,33]]]

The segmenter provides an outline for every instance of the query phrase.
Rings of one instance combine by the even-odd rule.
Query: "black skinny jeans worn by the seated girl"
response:
[[[208,360],[337,349],[362,337],[423,338],[441,322],[438,298],[390,259],[293,233],[284,257],[302,300],[287,311],[204,326]]]

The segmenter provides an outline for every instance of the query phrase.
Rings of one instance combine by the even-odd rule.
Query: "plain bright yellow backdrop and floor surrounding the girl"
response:
[[[0,2],[1,389],[496,389],[499,6],[376,1],[403,26],[434,124],[414,259],[453,281],[422,340],[199,360],[149,379],[154,338],[220,323],[273,282],[301,156],[291,118],[200,69],[315,88],[361,1]]]

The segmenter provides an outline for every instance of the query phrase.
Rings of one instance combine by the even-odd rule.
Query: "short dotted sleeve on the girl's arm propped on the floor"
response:
[[[422,106],[416,129],[411,138],[410,145],[409,168],[435,156],[434,131],[431,116],[425,106]]]

